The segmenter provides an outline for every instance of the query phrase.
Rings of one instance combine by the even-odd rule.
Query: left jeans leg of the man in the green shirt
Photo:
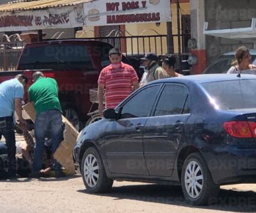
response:
[[[36,116],[34,131],[36,138],[36,148],[33,155],[32,173],[39,173],[42,168],[42,156],[46,137],[46,129],[49,124],[50,116],[48,111]]]

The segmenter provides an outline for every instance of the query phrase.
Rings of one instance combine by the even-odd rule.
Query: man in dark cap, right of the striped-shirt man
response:
[[[155,53],[147,53],[141,60],[142,65],[144,65],[144,75],[139,82],[140,87],[148,82],[169,77],[163,67],[159,66],[159,58]]]

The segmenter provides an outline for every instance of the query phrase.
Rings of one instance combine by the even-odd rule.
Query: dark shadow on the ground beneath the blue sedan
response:
[[[87,193],[87,190],[78,190],[78,192]],[[95,195],[113,197],[114,200],[139,200],[143,202],[156,202],[195,208],[186,202],[183,197],[181,187],[179,186],[127,185],[121,187],[112,187],[112,190],[110,190],[108,193]],[[217,200],[211,200],[210,205],[208,206],[196,208],[231,212],[255,212],[256,192],[222,189],[220,190]]]

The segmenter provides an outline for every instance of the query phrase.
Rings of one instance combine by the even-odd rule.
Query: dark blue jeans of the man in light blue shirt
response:
[[[13,116],[0,117],[0,135],[6,139],[8,171],[16,174],[16,141]]]

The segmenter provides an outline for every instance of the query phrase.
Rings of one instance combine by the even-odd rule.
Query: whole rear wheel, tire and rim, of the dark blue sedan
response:
[[[186,201],[192,205],[212,204],[220,190],[220,186],[213,182],[200,153],[191,153],[186,158],[181,173],[181,186]]]

